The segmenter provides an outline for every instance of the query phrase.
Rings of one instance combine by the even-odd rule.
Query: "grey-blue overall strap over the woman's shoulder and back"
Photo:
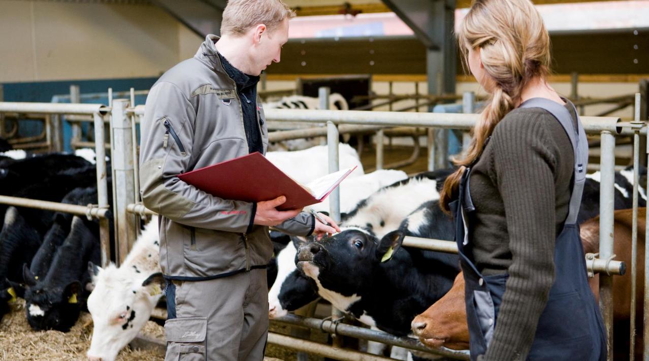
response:
[[[580,205],[582,204],[583,182],[585,181],[586,165],[588,164],[588,141],[576,108],[568,99],[561,99],[572,106],[572,109],[577,116],[576,129],[572,121],[572,116],[570,116],[570,112],[565,108],[565,106],[560,105],[555,101],[551,101],[550,99],[528,99],[522,103],[519,108],[545,109],[559,121],[563,130],[568,134],[568,138],[570,138],[570,143],[572,143],[572,149],[574,150],[574,177],[572,183],[572,194],[570,195],[570,208],[565,224],[572,225],[577,222],[577,215],[579,213]]]

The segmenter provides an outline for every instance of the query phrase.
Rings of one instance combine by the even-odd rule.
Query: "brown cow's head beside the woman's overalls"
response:
[[[464,302],[464,277],[460,272],[453,287],[428,310],[413,319],[412,331],[421,343],[437,349],[469,349],[469,327]]]

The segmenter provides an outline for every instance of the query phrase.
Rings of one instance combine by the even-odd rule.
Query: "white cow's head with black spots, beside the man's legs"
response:
[[[144,279],[129,268],[106,269],[88,264],[94,289],[88,297],[93,332],[90,360],[113,361],[117,353],[137,336],[162,296],[162,273]]]

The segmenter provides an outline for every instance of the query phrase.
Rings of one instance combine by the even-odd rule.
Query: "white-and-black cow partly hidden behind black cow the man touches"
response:
[[[422,173],[415,177],[398,181],[361,201],[352,212],[341,221],[341,230],[365,229],[377,237],[397,230],[408,214],[425,201],[439,199],[439,189],[450,170]],[[269,291],[269,317],[286,315],[317,299],[313,292],[313,282],[305,280],[304,275],[295,268],[295,255],[299,243],[283,249],[278,257],[278,276]]]

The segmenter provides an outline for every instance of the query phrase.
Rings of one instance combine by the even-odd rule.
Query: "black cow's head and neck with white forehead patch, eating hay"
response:
[[[100,249],[99,223],[75,216],[47,275],[36,280],[25,266],[25,308],[32,329],[67,332],[77,322],[88,295],[88,262],[101,261]]]

